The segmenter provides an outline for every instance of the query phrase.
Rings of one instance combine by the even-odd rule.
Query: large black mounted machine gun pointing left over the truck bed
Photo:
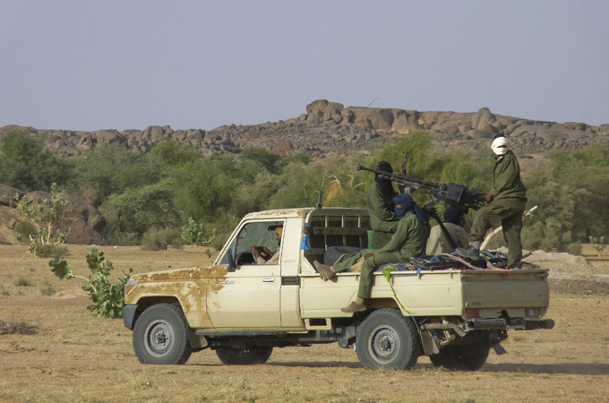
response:
[[[467,207],[472,210],[480,209],[485,202],[485,193],[479,189],[469,189],[465,184],[440,184],[437,182],[429,182],[412,177],[392,174],[390,172],[381,171],[362,167],[357,164],[358,171],[373,172],[385,179],[390,179],[392,182],[397,182],[405,186],[416,186],[418,188],[428,189],[429,197],[432,201],[426,204],[425,207],[433,207],[438,202],[450,206]]]

